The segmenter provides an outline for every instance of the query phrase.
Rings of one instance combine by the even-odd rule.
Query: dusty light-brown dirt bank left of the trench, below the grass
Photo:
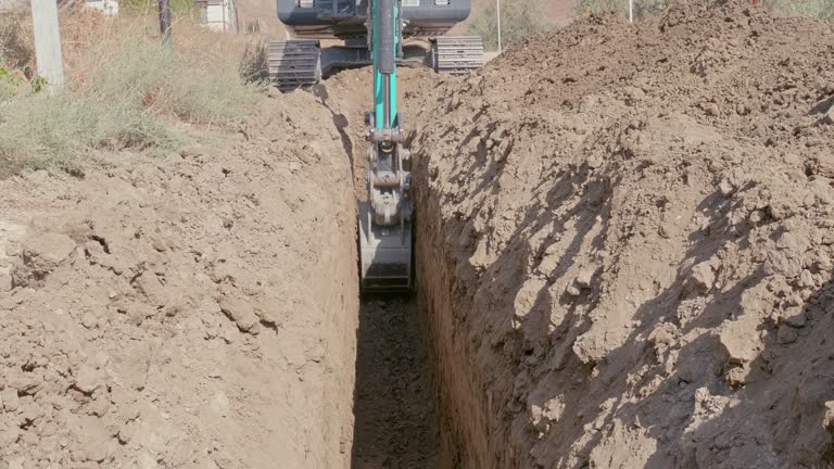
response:
[[[330,115],[295,93],[165,159],[101,157],[0,181],[0,466],[349,467],[355,214]]]

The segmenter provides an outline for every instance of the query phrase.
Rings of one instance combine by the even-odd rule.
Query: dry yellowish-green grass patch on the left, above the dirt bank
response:
[[[170,152],[188,140],[179,123],[228,126],[263,94],[241,74],[243,39],[191,20],[174,25],[172,49],[161,46],[150,17],[77,12],[61,27],[67,87],[0,101],[0,173],[72,168],[96,150]],[[0,42],[0,55],[10,53],[8,43],[27,43],[26,28],[15,31],[20,37]]]

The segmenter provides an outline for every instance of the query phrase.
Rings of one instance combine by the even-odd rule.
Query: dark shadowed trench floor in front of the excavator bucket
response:
[[[439,466],[439,423],[429,345],[417,302],[363,299],[354,393],[353,469]]]

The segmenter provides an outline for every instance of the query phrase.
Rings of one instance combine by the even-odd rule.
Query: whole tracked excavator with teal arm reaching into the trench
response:
[[[480,37],[442,36],[469,9],[469,0],[278,0],[278,16],[296,37],[269,43],[269,73],[279,89],[313,86],[343,68],[374,68],[374,111],[365,115],[368,194],[357,211],[365,293],[407,292],[415,283],[410,153],[396,106],[397,65],[450,74],[483,66]]]

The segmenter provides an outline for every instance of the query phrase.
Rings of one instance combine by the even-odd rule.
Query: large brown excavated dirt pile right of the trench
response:
[[[426,98],[447,457],[831,462],[833,63],[827,23],[683,5],[531,38]]]

